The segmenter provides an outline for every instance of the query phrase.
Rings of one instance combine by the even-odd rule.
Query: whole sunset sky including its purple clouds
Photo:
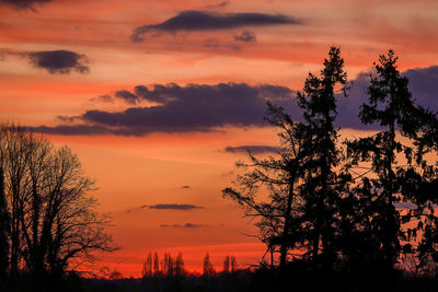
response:
[[[345,136],[370,68],[389,48],[417,103],[438,109],[436,0],[0,0],[0,121],[68,144],[95,178],[120,250],[100,262],[139,277],[149,252],[209,252],[256,264],[254,222],[221,197],[245,149],[278,145],[265,101],[300,112],[296,91],[341,46],[350,96]]]

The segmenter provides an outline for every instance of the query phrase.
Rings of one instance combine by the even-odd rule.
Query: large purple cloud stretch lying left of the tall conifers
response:
[[[32,128],[38,132],[60,135],[124,135],[143,136],[151,132],[203,132],[231,126],[263,126],[266,101],[293,106],[293,92],[285,86],[245,83],[216,85],[177,84],[136,86],[134,92],[118,91],[114,98],[130,107],[123,112],[88,110],[73,120],[78,125]],[[132,106],[149,101],[154,106]],[[68,117],[62,119],[68,120]]]

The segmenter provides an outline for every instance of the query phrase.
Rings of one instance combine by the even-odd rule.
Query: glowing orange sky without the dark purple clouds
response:
[[[135,27],[164,23],[183,11],[281,14],[299,24],[155,31],[142,43],[130,40]],[[104,103],[99,96],[140,84],[242,82],[299,90],[333,44],[341,45],[351,79],[389,48],[401,57],[402,71],[427,68],[438,60],[437,15],[435,0],[53,0],[27,9],[0,1],[0,121],[56,126],[61,124],[58,116],[125,110],[130,105]],[[237,40],[244,31],[254,42]],[[88,72],[50,72],[28,57],[51,50],[84,55]],[[272,129],[231,125],[204,132],[49,139],[71,147],[96,179],[99,190],[92,195],[101,211],[113,214],[110,232],[122,247],[101,260],[124,276],[140,276],[142,260],[153,250],[183,252],[191,270],[200,269],[206,252],[217,269],[228,254],[241,265],[261,259],[264,246],[245,236],[255,234],[255,227],[220,190],[235,178],[234,163],[244,157],[224,148],[276,145]],[[140,208],[158,203],[203,208]],[[160,226],[186,223],[199,226]]]

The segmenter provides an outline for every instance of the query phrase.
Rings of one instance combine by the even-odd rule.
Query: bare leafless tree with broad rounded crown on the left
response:
[[[91,259],[93,250],[114,250],[103,232],[110,221],[94,212],[96,200],[87,196],[93,182],[70,149],[55,149],[42,137],[2,125],[0,153],[11,275],[62,275],[78,257]]]

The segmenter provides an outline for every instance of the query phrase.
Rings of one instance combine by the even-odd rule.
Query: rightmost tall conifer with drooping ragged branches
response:
[[[369,235],[378,249],[377,260],[385,269],[394,268],[402,252],[416,254],[420,266],[430,256],[437,255],[438,260],[434,207],[438,172],[425,160],[424,148],[418,148],[430,142],[418,138],[431,116],[414,104],[408,80],[400,74],[396,61],[393,50],[380,56],[368,87],[368,104],[359,115],[362,124],[378,122],[383,130],[347,142],[351,165],[371,164],[373,176],[362,180],[361,190],[374,202],[369,209],[373,214]]]

